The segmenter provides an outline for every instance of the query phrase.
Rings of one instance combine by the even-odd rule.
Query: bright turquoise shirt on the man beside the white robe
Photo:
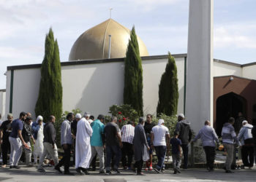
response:
[[[91,146],[103,146],[102,134],[104,134],[105,125],[99,121],[95,120],[91,123],[91,128],[93,130],[91,136]]]

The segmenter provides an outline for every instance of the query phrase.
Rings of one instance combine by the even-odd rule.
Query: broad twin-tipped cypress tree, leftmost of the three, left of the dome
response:
[[[59,59],[58,42],[54,40],[53,30],[50,28],[45,37],[45,57],[41,66],[41,80],[35,113],[48,119],[50,115],[61,119],[62,114],[62,86],[61,63]]]

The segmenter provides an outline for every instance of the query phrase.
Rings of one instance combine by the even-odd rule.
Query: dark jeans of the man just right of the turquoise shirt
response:
[[[118,170],[121,159],[121,149],[119,146],[106,146],[107,159],[106,169],[111,170],[111,159],[113,157],[114,170]]]

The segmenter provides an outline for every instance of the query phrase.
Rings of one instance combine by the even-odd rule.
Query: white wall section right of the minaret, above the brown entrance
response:
[[[241,66],[214,61],[214,76],[242,76]]]

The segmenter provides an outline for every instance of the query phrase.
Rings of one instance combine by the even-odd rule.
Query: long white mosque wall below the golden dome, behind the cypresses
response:
[[[156,114],[159,82],[167,58],[143,60],[144,113]],[[184,112],[184,58],[176,58],[178,69],[178,113]],[[10,106],[10,76],[7,71],[6,113]],[[123,103],[124,63],[94,63],[75,66],[61,66],[63,87],[63,111],[74,108],[89,111],[94,116],[108,114],[113,104]],[[40,82],[39,68],[14,71],[12,114],[18,117],[20,111],[31,112],[37,102]]]

